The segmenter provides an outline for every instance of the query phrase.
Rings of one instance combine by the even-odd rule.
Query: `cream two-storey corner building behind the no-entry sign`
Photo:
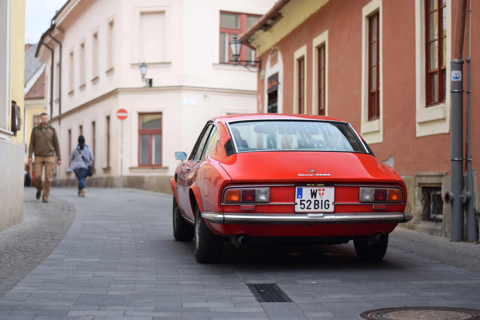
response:
[[[228,63],[228,41],[273,4],[68,1],[36,52],[46,63],[45,104],[63,160],[54,185],[76,184],[68,156],[82,134],[95,155],[96,171],[87,186],[120,186],[116,112],[125,109],[123,186],[171,192],[169,179],[178,164],[174,152],[190,153],[208,119],[256,113],[256,73]],[[47,46],[53,50],[53,99]],[[151,86],[142,79],[142,63]]]

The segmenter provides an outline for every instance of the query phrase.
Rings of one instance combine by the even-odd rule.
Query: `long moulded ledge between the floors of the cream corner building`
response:
[[[210,93],[223,93],[223,94],[234,94],[234,95],[256,95],[257,92],[254,90],[237,90],[237,89],[221,89],[221,88],[207,88],[207,87],[193,87],[185,85],[176,85],[176,86],[166,86],[166,87],[151,87],[151,88],[117,88],[110,92],[107,92],[104,95],[100,95],[95,99],[92,99],[84,104],[74,107],[73,109],[68,110],[67,112],[62,113],[59,116],[53,117],[50,121],[56,121],[60,118],[65,118],[71,114],[77,113],[85,108],[88,108],[96,103],[108,99],[114,95],[119,95],[122,93],[130,94],[145,94],[145,93],[155,93],[155,92],[174,92],[174,91],[201,91],[201,92],[210,92]]]

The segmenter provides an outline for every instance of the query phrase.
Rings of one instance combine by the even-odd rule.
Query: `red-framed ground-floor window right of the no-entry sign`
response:
[[[162,114],[139,114],[139,166],[161,166],[162,164]]]

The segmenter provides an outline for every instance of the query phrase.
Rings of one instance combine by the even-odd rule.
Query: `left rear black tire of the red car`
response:
[[[223,237],[208,229],[198,205],[195,206],[195,227],[193,235],[193,252],[200,263],[216,263],[222,258]]]

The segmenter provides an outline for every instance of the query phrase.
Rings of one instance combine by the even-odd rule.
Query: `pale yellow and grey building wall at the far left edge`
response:
[[[24,35],[25,1],[0,0],[0,230],[23,219]]]

